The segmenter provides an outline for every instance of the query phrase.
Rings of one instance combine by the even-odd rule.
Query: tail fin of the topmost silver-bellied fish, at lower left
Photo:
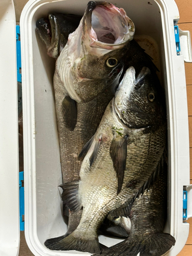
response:
[[[84,239],[83,237],[75,236],[75,232],[68,237],[52,238],[45,242],[45,246],[50,250],[77,250],[83,252],[97,253],[100,252],[98,239]]]

